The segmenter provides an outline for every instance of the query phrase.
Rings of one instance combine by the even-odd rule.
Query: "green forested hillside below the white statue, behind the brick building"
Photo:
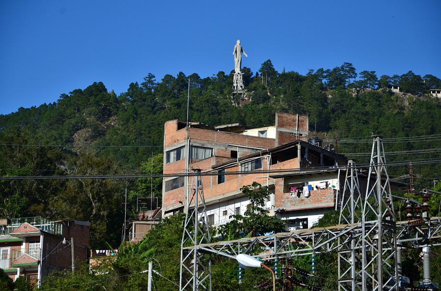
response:
[[[270,60],[254,73],[244,67],[248,93],[232,94],[233,74],[218,72],[201,78],[148,74],[141,84],[131,83],[117,96],[103,83],[61,94],[39,107],[20,108],[0,115],[0,176],[60,176],[150,174],[162,171],[162,138],[166,120],[186,119],[190,78],[190,120],[209,125],[239,122],[253,127],[274,124],[275,112],[310,116],[311,134],[336,140],[339,153],[369,152],[368,143],[339,139],[441,134],[441,104],[429,89],[441,88],[432,75],[412,71],[401,76],[359,74],[352,64],[319,68],[308,74],[277,72]],[[400,93],[387,89],[399,85]],[[111,84],[107,84],[111,87]],[[386,144],[387,152],[438,149],[441,138]],[[437,152],[394,155],[388,160],[439,157]],[[365,162],[368,157],[357,159]],[[391,175],[408,173],[394,167]],[[417,186],[441,178],[438,164],[414,166]],[[150,179],[37,179],[0,180],[0,216],[41,215],[51,219],[92,222],[92,247],[118,246],[123,224],[124,190],[130,193],[129,210],[136,196],[150,196]],[[161,195],[161,180],[154,181]]]

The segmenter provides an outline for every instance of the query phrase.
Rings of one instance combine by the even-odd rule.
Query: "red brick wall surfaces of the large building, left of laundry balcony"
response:
[[[297,126],[298,119],[298,126]],[[200,146],[212,149],[212,157],[204,160],[191,160],[188,167],[191,172],[194,169],[207,171],[214,165],[227,163],[231,161],[232,166],[225,168],[226,172],[240,171],[240,166],[234,164],[237,158],[245,157],[259,152],[259,149],[270,149],[276,146],[287,144],[296,140],[305,140],[308,138],[308,116],[277,113],[276,114],[276,138],[259,137],[253,135],[245,135],[240,133],[231,133],[226,131],[216,131],[207,126],[185,126],[178,120],[167,121],[164,125],[164,174],[185,173],[188,159],[188,149],[185,148],[185,157],[176,162],[166,163],[166,152],[174,150],[178,147],[187,147],[188,140],[192,146]],[[233,157],[232,152],[238,152],[237,157]],[[256,157],[258,158],[258,157]],[[298,159],[290,160],[290,162],[274,164],[272,168],[298,168]],[[262,159],[262,167],[257,171],[267,169],[267,160]],[[239,189],[244,185],[249,185],[254,181],[266,184],[267,177],[264,174],[253,171],[250,174],[241,175],[225,175],[225,182],[218,184],[217,176],[203,176],[204,195],[207,201],[215,199],[227,199],[229,195],[239,193]],[[182,208],[184,202],[185,187],[165,191],[166,178],[163,182],[163,213],[170,210]],[[271,180],[270,183],[273,183]],[[190,177],[189,183],[192,183]],[[168,188],[169,189],[169,188]],[[181,202],[180,202],[181,201]]]

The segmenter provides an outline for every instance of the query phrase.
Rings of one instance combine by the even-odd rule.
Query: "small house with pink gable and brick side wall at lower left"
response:
[[[89,222],[49,221],[41,217],[0,220],[0,268],[13,280],[25,276],[38,283],[55,269],[72,266],[74,237],[75,262],[87,260]],[[68,242],[63,244],[63,239]]]

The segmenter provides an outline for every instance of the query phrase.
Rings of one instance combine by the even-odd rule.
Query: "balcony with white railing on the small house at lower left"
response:
[[[38,265],[40,258],[40,247],[29,247],[27,252],[22,252],[18,249],[2,248],[0,253],[0,269]]]

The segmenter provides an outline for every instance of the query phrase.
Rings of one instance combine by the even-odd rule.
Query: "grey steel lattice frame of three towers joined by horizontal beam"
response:
[[[191,199],[204,201],[202,187],[196,188],[198,190],[193,189],[195,191],[187,205],[190,205]],[[356,165],[350,160],[340,199],[339,224],[335,226],[216,243],[209,242],[209,235],[202,235],[199,240],[196,239],[199,230],[204,234],[208,231],[207,224],[203,224],[203,229],[200,228],[201,222],[204,222],[201,217],[205,217],[207,222],[205,203],[203,202],[202,212],[188,210],[182,240],[181,270],[192,277],[183,283],[181,275],[180,290],[190,286],[189,282],[193,282],[193,290],[205,287],[203,283],[210,278],[206,272],[208,269],[197,271],[197,266],[206,259],[203,257],[204,253],[233,259],[238,254],[249,254],[262,261],[268,261],[337,251],[339,291],[398,291],[401,274],[398,273],[397,245],[441,245],[441,217],[396,221],[380,136],[375,136],[373,140],[366,191],[360,191]],[[195,209],[199,209],[197,201],[195,205]],[[189,225],[198,230],[188,230],[192,229]],[[187,246],[187,242],[191,242],[191,246]],[[195,261],[200,260],[200,264],[192,265],[192,268],[186,267],[184,261],[188,260],[190,255],[197,259]]]

